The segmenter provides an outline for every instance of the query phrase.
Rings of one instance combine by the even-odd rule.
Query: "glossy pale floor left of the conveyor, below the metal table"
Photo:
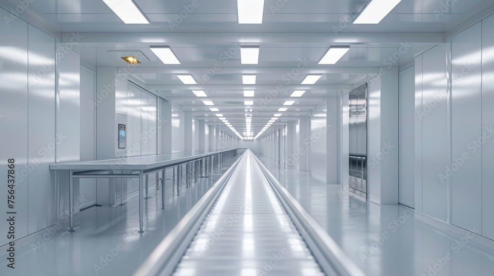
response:
[[[167,173],[168,178],[170,175]],[[137,233],[138,197],[134,193],[124,207],[83,210],[73,234],[65,230],[53,235],[46,230],[39,232],[37,242],[16,248],[14,270],[6,268],[6,249],[1,250],[0,276],[132,275],[213,184],[211,177],[199,178],[199,182],[188,189],[185,181],[182,183],[181,195],[177,197],[176,184],[166,181],[165,210],[161,209],[161,190],[150,186],[152,198],[144,202],[144,234]],[[43,237],[47,242],[39,242]]]

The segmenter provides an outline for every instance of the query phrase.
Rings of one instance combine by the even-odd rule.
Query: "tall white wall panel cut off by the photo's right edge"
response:
[[[482,21],[482,236],[494,240],[494,16]]]

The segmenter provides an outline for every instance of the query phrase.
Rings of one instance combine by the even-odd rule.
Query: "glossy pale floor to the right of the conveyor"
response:
[[[494,250],[414,218],[402,205],[367,203],[261,158],[292,196],[369,276],[493,276]]]

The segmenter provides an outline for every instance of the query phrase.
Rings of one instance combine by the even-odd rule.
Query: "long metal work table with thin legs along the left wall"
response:
[[[173,153],[165,155],[150,155],[140,157],[129,157],[120,159],[87,161],[87,162],[67,162],[50,165],[50,170],[69,171],[69,225],[70,231],[74,232],[74,178],[139,178],[139,233],[143,231],[143,188],[144,176],[151,173],[162,173],[163,183],[165,183],[165,169],[177,167],[177,175],[181,173],[180,165],[186,164],[186,183],[189,187],[190,162],[205,160],[206,175],[210,175],[214,168],[213,164],[220,164],[227,154],[237,153],[239,149],[229,149],[221,151],[202,151],[191,153]],[[197,176],[197,163],[194,164]],[[203,162],[201,162],[201,167]],[[127,173],[124,173],[127,171]],[[131,173],[128,173],[130,171]],[[106,173],[107,174],[101,174]],[[202,173],[202,168],[201,168]],[[179,179],[180,180],[180,179]],[[177,181],[177,188],[180,181]],[[148,181],[146,177],[146,193]],[[178,190],[178,189],[177,189]],[[179,195],[179,194],[178,194]],[[165,209],[165,188],[162,187],[162,209]]]

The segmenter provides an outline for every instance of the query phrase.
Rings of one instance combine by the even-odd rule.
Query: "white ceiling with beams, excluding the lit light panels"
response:
[[[142,52],[149,62],[132,69],[130,77],[208,123],[218,119],[192,89],[206,91],[208,100],[241,133],[246,127],[243,90],[255,90],[255,136],[290,100],[293,90],[307,92],[270,130],[308,114],[324,97],[365,83],[400,50],[399,59],[391,59],[393,66],[412,63],[416,52],[444,42],[445,33],[455,26],[481,11],[494,10],[493,0],[402,0],[379,24],[353,25],[351,20],[367,0],[265,0],[263,24],[239,25],[236,0],[197,0],[197,7],[185,11],[193,1],[134,0],[151,22],[143,25],[124,24],[102,0],[33,1],[27,13],[60,31],[63,42],[79,32],[81,60],[90,67],[125,69],[124,61],[112,52]],[[453,5],[443,6],[447,2]],[[18,0],[0,0],[0,5],[15,7]],[[175,21],[181,12],[185,18]],[[150,45],[170,46],[181,65],[164,65]],[[240,45],[260,46],[258,65],[241,65]],[[336,65],[318,65],[332,45],[350,45],[350,51]],[[227,59],[225,51],[231,52]],[[289,77],[301,61],[301,72]],[[184,85],[177,73],[192,74],[201,85]],[[256,85],[243,85],[242,73],[256,74]],[[314,73],[323,77],[315,85],[300,85]],[[262,101],[277,85],[282,89],[264,106]]]

